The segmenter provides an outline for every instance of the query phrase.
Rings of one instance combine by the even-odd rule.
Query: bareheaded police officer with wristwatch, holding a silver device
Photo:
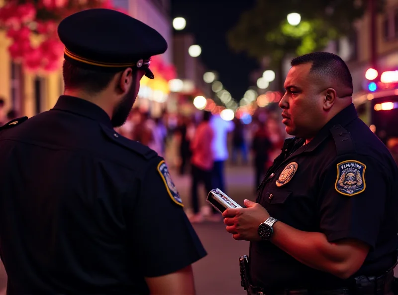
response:
[[[285,141],[255,202],[224,212],[250,241],[252,294],[390,294],[398,168],[358,118],[351,74],[332,53],[292,61],[279,103]]]

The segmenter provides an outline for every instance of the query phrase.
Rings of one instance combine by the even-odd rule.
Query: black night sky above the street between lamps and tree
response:
[[[239,101],[249,86],[249,73],[258,67],[255,59],[229,48],[226,33],[239,20],[242,11],[255,0],[171,0],[172,18],[187,20],[184,32],[193,33],[202,48],[199,56],[208,70],[219,74],[219,81]],[[253,85],[254,86],[254,85]]]

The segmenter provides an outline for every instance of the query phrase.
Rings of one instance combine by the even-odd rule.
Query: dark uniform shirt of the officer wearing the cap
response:
[[[148,294],[144,277],[206,255],[163,158],[93,103],[7,124],[0,167],[8,294]]]

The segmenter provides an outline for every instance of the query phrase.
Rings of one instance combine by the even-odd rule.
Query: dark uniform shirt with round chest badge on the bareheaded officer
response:
[[[329,242],[356,239],[370,248],[357,274],[380,276],[398,248],[398,169],[390,152],[360,119],[342,110],[304,145],[285,141],[257,202],[280,221]],[[250,245],[253,285],[263,288],[346,287],[348,281],[311,269],[270,242]]]

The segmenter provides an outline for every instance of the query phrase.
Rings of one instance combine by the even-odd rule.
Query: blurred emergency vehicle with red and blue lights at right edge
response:
[[[368,69],[368,91],[353,96],[360,118],[390,149],[398,162],[398,70]]]

